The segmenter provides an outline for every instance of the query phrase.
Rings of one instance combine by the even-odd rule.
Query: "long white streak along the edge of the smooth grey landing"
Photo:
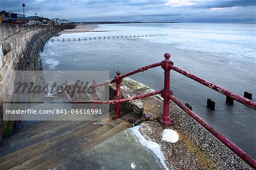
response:
[[[141,142],[141,144],[144,147],[148,148],[159,158],[160,163],[162,164],[163,168],[169,169],[164,161],[164,156],[163,156],[163,153],[161,151],[159,144],[152,142],[151,140],[145,139],[144,136],[142,136],[141,132],[139,132],[139,127],[140,127],[140,125],[131,127],[130,130],[134,133],[135,136],[137,136],[137,138],[139,139],[139,142]]]

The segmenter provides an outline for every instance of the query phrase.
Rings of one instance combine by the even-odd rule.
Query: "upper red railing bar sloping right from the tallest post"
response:
[[[183,74],[184,76],[186,76],[188,78],[191,78],[192,80],[195,80],[195,81],[199,82],[200,84],[208,86],[208,88],[216,90],[217,92],[219,92],[221,94],[224,94],[225,96],[228,96],[228,97],[242,103],[243,105],[246,105],[246,106],[251,107],[252,109],[256,110],[256,102],[251,101],[250,99],[247,99],[247,98],[242,97],[242,96],[240,96],[236,93],[230,92],[229,90],[221,88],[221,86],[214,85],[212,82],[204,80],[203,78],[195,76],[195,75],[193,75],[189,72],[183,71],[182,69],[177,68],[174,65],[172,65],[171,69],[178,72],[178,73]]]

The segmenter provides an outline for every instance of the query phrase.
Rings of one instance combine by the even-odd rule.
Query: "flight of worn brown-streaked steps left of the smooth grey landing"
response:
[[[112,114],[114,111],[110,113],[110,115]],[[130,127],[130,123],[126,122],[118,121],[112,123],[113,125],[105,126],[93,125],[95,122],[68,121],[63,125],[51,126],[53,129],[47,131],[40,126],[27,128],[27,130],[34,130],[35,135],[28,136],[28,139],[22,139],[22,136],[19,136],[18,139],[12,137],[16,141],[11,144],[7,143],[7,146],[1,148],[4,156],[0,157],[0,167],[1,169],[53,168]],[[51,123],[42,125],[47,126]],[[51,167],[49,167],[50,165]]]

